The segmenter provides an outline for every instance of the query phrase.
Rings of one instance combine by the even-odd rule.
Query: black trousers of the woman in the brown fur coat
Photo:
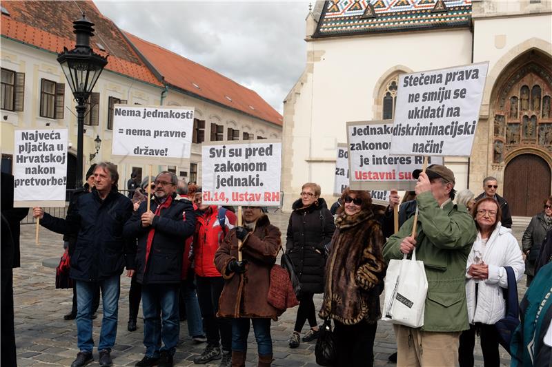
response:
[[[362,320],[345,325],[335,321],[333,333],[337,345],[337,364],[334,367],[372,367],[376,324]]]

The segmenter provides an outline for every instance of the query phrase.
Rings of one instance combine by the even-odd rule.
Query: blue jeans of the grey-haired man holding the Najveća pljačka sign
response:
[[[92,313],[95,291],[99,286],[103,299],[103,318],[99,335],[98,350],[111,350],[117,336],[117,315],[119,313],[120,275],[113,275],[99,282],[77,280],[77,346],[81,352],[92,353]]]

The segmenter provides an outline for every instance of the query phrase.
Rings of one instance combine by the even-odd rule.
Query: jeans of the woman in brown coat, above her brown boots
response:
[[[253,332],[255,333],[255,340],[257,340],[259,355],[271,355],[272,337],[270,337],[270,319],[249,319],[248,317],[232,319],[232,350],[237,350],[238,352],[247,351],[249,320],[253,322]]]

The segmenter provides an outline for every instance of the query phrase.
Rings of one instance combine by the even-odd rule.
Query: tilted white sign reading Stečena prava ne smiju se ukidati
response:
[[[399,77],[391,154],[470,156],[489,63]]]

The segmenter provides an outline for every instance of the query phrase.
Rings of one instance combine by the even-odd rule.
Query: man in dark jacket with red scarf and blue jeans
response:
[[[195,214],[189,200],[179,200],[177,184],[172,172],[157,175],[150,211],[142,202],[124,227],[127,238],[138,240],[137,281],[142,284],[146,355],[136,366],[172,366],[178,343],[182,254],[195,231]]]

